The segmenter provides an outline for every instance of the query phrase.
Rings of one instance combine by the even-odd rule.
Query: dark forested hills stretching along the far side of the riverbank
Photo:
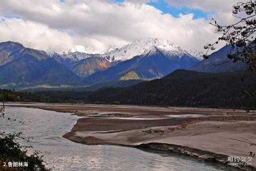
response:
[[[162,79],[125,88],[82,92],[41,91],[35,94],[2,91],[9,91],[10,96],[14,96],[9,101],[256,108],[255,73],[198,73],[177,70]],[[19,100],[15,100],[17,95]]]

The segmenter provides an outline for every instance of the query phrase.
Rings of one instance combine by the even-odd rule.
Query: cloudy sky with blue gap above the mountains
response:
[[[223,3],[225,2],[225,3]],[[203,50],[218,33],[209,22],[231,23],[237,0],[1,0],[0,41],[59,52],[73,45],[98,50],[137,39],[168,39]]]

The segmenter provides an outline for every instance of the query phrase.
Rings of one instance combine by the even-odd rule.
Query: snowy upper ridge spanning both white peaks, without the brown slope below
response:
[[[102,58],[107,59],[109,62],[122,62],[127,61],[134,56],[142,55],[147,53],[153,47],[157,47],[162,51],[169,54],[169,56],[182,56],[184,54],[190,54],[196,57],[199,61],[202,60],[203,52],[199,52],[196,49],[183,50],[178,45],[175,45],[169,40],[148,38],[133,41],[132,44],[125,45],[121,48],[111,47],[107,53],[102,53],[92,49],[89,46],[74,46],[66,48],[58,53],[63,59],[70,60],[71,62],[81,61],[82,59],[92,57],[92,54],[99,54]],[[52,54],[49,54],[52,56]]]

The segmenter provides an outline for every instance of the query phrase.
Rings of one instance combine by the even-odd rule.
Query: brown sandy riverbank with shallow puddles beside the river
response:
[[[174,151],[226,164],[228,156],[247,159],[249,151],[256,152],[255,146],[237,141],[248,139],[256,142],[256,114],[244,110],[51,104],[22,106],[84,116],[63,137],[85,144]],[[256,167],[255,158],[252,166]]]

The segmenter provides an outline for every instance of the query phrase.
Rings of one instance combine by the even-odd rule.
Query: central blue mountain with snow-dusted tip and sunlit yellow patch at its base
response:
[[[171,44],[173,45],[173,44]],[[117,80],[150,80],[162,78],[177,69],[188,69],[199,61],[178,46],[151,46],[141,55],[122,61],[84,79],[85,84]]]

